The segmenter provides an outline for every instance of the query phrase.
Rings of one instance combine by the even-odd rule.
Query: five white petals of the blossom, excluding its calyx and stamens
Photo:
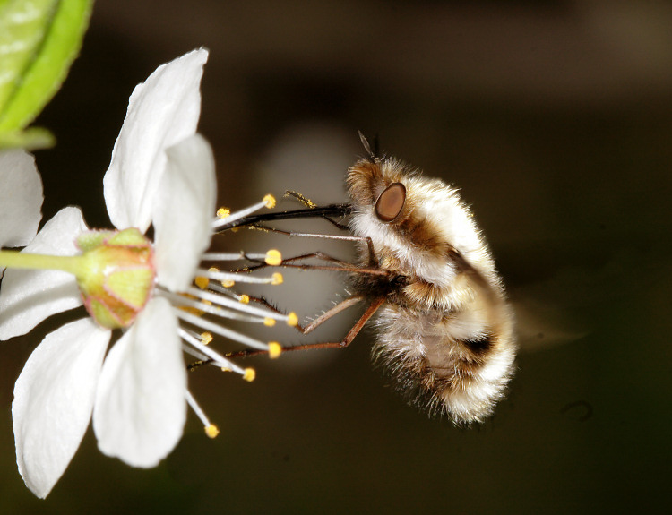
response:
[[[195,50],[159,66],[135,88],[104,180],[117,229],[144,232],[153,224],[157,279],[172,291],[190,286],[211,239],[214,163],[209,144],[195,133],[207,56]],[[23,252],[75,255],[75,239],[87,230],[80,210],[65,208]],[[82,296],[69,273],[7,270],[0,339],[79,305]],[[91,413],[99,449],[135,467],[156,465],[182,434],[186,370],[174,308],[165,297],[151,296],[105,357],[110,337],[111,330],[90,318],[68,323],[39,344],[16,382],[17,463],[39,497],[65,471]]]

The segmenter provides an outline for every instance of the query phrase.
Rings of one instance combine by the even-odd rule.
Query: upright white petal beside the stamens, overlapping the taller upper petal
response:
[[[159,283],[184,291],[194,280],[201,255],[210,246],[217,202],[215,161],[200,134],[168,149],[152,215]]]

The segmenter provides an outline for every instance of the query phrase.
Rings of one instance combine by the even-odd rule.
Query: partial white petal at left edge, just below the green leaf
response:
[[[28,245],[38,232],[43,199],[35,158],[23,150],[0,151],[0,247]]]

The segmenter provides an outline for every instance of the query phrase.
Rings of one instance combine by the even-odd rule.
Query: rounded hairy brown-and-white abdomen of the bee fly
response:
[[[385,305],[375,360],[411,403],[459,425],[482,422],[513,374],[512,317],[504,303],[496,309],[502,316],[476,303],[454,313]]]

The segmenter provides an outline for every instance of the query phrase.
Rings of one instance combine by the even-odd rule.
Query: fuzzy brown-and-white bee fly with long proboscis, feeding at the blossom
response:
[[[304,217],[337,224],[332,217],[349,215],[354,237],[333,237],[358,241],[357,263],[314,253],[283,264],[346,270],[352,278],[353,295],[299,327],[302,332],[360,302],[368,304],[366,312],[339,342],[287,350],[347,347],[376,314],[373,355],[398,390],[430,414],[447,414],[455,424],[482,422],[504,396],[516,351],[513,310],[487,243],[457,190],[397,159],[379,157],[360,137],[367,157],[348,170],[348,204],[251,216],[221,230]],[[296,263],[309,257],[329,266]],[[232,356],[250,354],[255,352]]]

